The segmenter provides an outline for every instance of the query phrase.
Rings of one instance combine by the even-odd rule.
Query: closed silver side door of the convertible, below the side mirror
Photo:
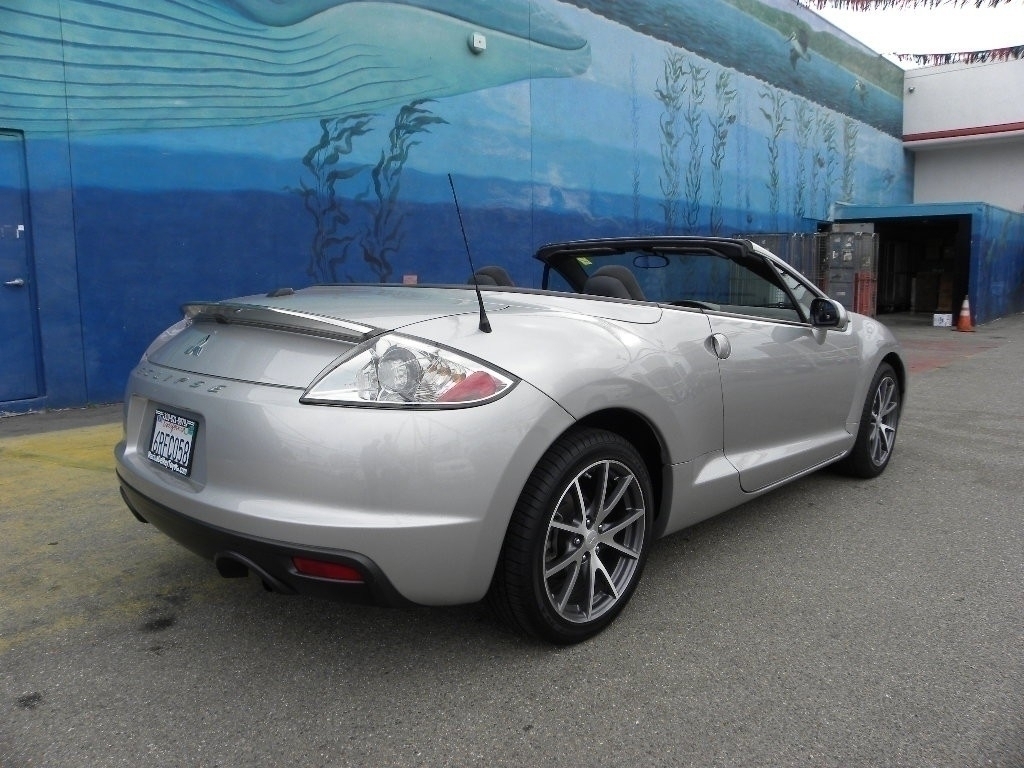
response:
[[[859,370],[849,330],[806,321],[813,292],[757,254],[734,257],[730,287],[709,311],[719,352],[725,454],[754,492],[847,450],[847,418]],[[793,288],[806,293],[803,296]]]

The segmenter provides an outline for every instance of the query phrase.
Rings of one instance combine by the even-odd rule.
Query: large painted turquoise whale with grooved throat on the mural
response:
[[[570,77],[591,56],[535,0],[62,0],[0,8],[0,115],[37,132],[371,112]]]

